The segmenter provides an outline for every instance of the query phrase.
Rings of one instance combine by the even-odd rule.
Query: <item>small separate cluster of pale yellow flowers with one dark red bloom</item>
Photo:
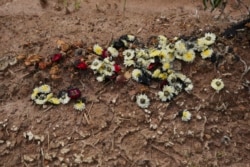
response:
[[[51,87],[47,84],[43,84],[39,87],[35,87],[31,94],[31,100],[38,105],[44,105],[46,103],[54,105],[67,104],[71,99],[77,99],[77,102],[74,104],[76,110],[82,111],[85,109],[85,100],[81,98],[81,92],[78,88],[69,88],[67,91],[62,90],[58,96],[55,97],[51,92]]]

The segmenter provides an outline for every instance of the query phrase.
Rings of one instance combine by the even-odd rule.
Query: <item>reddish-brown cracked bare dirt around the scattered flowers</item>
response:
[[[124,34],[146,42],[152,35],[214,32],[214,47],[229,46],[241,60],[223,53],[218,68],[201,59],[182,63],[181,71],[192,79],[194,89],[169,103],[155,97],[154,86],[133,80],[105,85],[90,71],[72,77],[64,70],[62,80],[54,81],[44,70],[53,92],[80,88],[87,99],[82,113],[73,103],[45,108],[33,104],[30,95],[40,80],[29,74],[33,66],[20,61],[0,72],[0,166],[250,166],[250,72],[242,75],[250,66],[250,33],[239,32],[233,39],[219,36],[246,16],[243,6],[236,8],[232,2],[217,18],[219,11],[203,11],[199,0],[127,0],[125,8],[123,0],[82,0],[79,8],[75,1],[65,2],[49,1],[42,8],[39,1],[2,0],[0,56],[46,57],[54,53],[58,39],[82,40],[88,48],[95,43],[107,46]],[[225,89],[215,94],[210,82],[217,77]],[[133,101],[141,90],[152,97],[150,115]],[[189,123],[174,117],[184,109],[192,113]],[[150,128],[155,124],[156,130]],[[24,137],[29,131],[44,140],[29,141]]]

